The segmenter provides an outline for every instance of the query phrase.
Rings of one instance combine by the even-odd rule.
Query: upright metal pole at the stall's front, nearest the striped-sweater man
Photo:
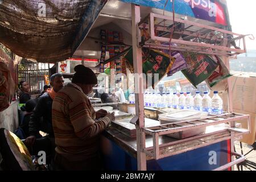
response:
[[[142,74],[142,49],[138,47],[138,23],[141,21],[141,9],[138,5],[131,5],[132,13],[132,35],[133,35],[133,65],[134,73],[138,75]],[[137,84],[138,90],[135,90],[135,110],[136,115],[139,118],[139,123],[136,123],[137,129],[137,165],[139,171],[146,171],[146,154],[143,152],[145,148],[145,133],[142,132],[144,127],[144,101],[143,101],[143,92],[139,92],[139,88],[143,88],[141,85],[143,81],[140,82],[140,79],[135,79],[134,83]],[[135,87],[136,88],[136,87]],[[143,90],[143,89],[142,89]]]

